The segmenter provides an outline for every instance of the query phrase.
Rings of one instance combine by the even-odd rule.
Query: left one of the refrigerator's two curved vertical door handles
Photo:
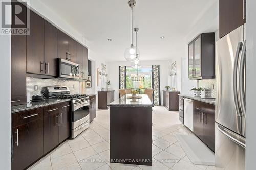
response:
[[[240,51],[242,49],[242,42],[238,43],[238,47],[237,47],[237,52],[236,52],[236,58],[234,59],[234,70],[233,70],[233,93],[234,93],[234,105],[236,106],[236,111],[237,111],[237,115],[239,117],[242,116],[242,114],[240,113],[240,108],[239,108],[239,100],[238,100],[238,60],[239,60],[239,54]]]

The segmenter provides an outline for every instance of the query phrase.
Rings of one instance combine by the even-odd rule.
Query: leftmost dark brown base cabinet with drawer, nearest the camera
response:
[[[12,170],[25,169],[44,155],[43,108],[12,114]]]

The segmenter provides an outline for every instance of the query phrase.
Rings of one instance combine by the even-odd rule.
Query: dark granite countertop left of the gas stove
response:
[[[39,107],[44,107],[44,106],[49,106],[57,103],[62,103],[62,102],[67,102],[70,101],[70,99],[46,99],[44,101],[38,101],[38,102],[29,102],[23,105],[17,105],[17,106],[12,106],[11,107],[11,113],[17,113],[21,111],[26,111],[30,109],[35,109]]]

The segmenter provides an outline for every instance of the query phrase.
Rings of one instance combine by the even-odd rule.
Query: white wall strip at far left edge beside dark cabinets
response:
[[[11,169],[11,36],[0,35],[0,51],[0,72],[3,73],[0,88],[0,166],[1,169]]]

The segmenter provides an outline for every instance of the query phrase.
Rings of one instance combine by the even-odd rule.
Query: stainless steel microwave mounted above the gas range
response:
[[[79,79],[80,65],[68,60],[59,59],[59,77]]]

